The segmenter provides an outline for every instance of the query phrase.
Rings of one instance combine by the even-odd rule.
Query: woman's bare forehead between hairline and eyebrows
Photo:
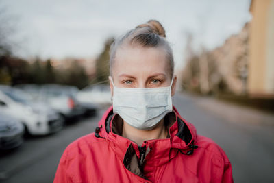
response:
[[[138,75],[162,72],[168,75],[168,64],[162,47],[120,47],[116,51],[112,73]]]

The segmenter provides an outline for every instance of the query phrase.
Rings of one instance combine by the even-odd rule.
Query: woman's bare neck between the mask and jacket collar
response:
[[[125,121],[123,123],[122,136],[134,141],[138,145],[142,145],[143,141],[166,138],[167,134],[168,132],[164,125],[164,119],[162,119],[152,130],[140,130],[132,127]]]

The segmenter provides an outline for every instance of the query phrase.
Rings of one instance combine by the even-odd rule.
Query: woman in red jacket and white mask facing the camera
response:
[[[177,77],[158,21],[110,48],[113,106],[66,148],[54,182],[233,182],[225,152],[172,106]]]

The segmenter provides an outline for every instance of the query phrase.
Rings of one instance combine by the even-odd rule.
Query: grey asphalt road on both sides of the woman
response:
[[[182,117],[195,125],[198,134],[212,138],[225,150],[232,162],[234,182],[274,182],[274,124],[270,124],[274,120],[249,123],[248,117],[252,116],[249,113],[253,112],[239,108],[239,118],[235,110],[225,107],[226,104],[189,95],[175,95],[173,103]],[[219,112],[215,112],[217,108]],[[28,138],[16,151],[2,154],[0,182],[53,182],[66,146],[80,136],[94,132],[104,110],[102,108],[95,117],[82,119],[56,134]]]

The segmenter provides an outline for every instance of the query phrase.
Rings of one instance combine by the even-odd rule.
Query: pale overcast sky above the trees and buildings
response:
[[[182,66],[188,34],[195,51],[210,50],[251,20],[250,0],[0,0],[0,5],[15,27],[14,53],[23,58],[95,58],[107,38],[156,19],[166,30],[175,66]]]

